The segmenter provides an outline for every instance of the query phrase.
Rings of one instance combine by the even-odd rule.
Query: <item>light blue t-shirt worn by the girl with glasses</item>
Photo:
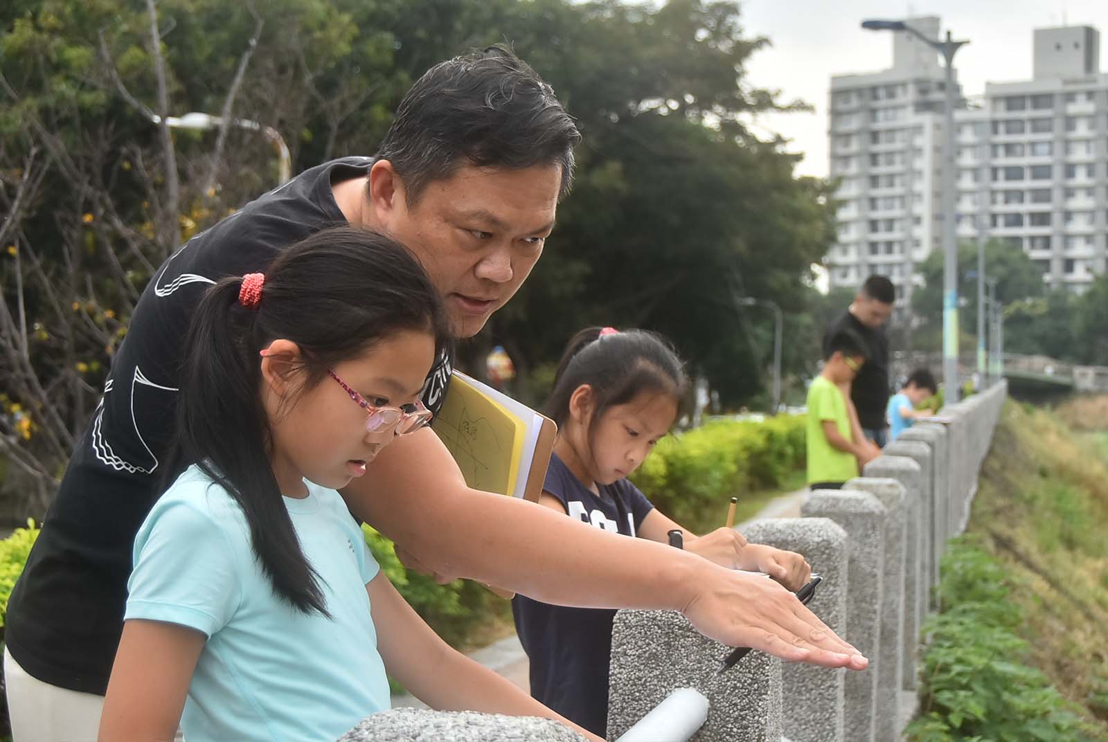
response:
[[[207,636],[181,720],[188,742],[332,742],[389,708],[365,587],[379,567],[341,496],[306,484],[307,498],[284,501],[330,618],[274,592],[238,504],[195,466],[138,529],[125,619]]]

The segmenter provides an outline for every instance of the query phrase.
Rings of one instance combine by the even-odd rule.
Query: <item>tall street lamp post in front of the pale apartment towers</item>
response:
[[[954,213],[954,53],[967,41],[954,41],[946,32],[945,41],[929,39],[903,21],[862,21],[870,31],[907,31],[943,55],[945,62],[946,111],[943,136],[943,385],[947,403],[958,401],[958,284],[957,244]],[[910,277],[911,278],[911,277]]]

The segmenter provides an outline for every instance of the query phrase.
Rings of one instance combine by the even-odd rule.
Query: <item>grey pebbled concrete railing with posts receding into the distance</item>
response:
[[[861,672],[751,652],[715,674],[727,648],[667,611],[619,611],[612,636],[608,739],[676,688],[709,702],[694,742],[894,742],[915,711],[921,627],[946,542],[961,534],[1007,394],[1002,382],[920,423],[803,517],[758,521],[753,543],[803,554],[823,577],[809,607],[870,658]]]

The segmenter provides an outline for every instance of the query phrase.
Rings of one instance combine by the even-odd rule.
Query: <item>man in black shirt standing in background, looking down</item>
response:
[[[870,276],[854,296],[842,317],[823,336],[827,342],[843,329],[853,330],[866,344],[869,360],[858,372],[850,388],[850,399],[865,437],[884,446],[889,434],[885,406],[889,404],[889,338],[884,324],[893,312],[896,291],[884,276]]]

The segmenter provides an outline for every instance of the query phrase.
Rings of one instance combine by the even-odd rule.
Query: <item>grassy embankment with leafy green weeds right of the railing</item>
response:
[[[1108,398],[1005,405],[910,739],[1108,740]]]

